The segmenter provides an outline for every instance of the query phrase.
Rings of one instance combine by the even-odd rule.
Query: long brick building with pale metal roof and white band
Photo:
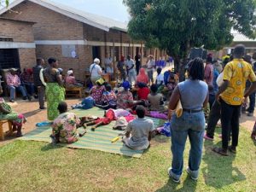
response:
[[[84,71],[89,70],[95,57],[103,63],[107,53],[114,61],[118,61],[121,55],[134,58],[137,52],[144,55],[143,62],[148,54],[160,56],[160,51],[144,49],[141,42],[134,42],[127,35],[125,23],[48,0],[16,0],[8,9],[0,10],[0,15],[35,22],[32,30],[36,56],[58,58],[64,72],[72,67],[79,79],[84,79]],[[29,65],[32,67],[34,62]],[[20,63],[20,67],[24,65]]]

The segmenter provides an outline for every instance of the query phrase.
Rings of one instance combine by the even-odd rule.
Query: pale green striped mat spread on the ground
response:
[[[102,117],[104,111],[100,108],[91,108],[89,110],[79,110],[75,109],[72,111],[76,113],[79,117],[83,117],[86,115],[95,115],[98,117]],[[151,119],[151,118],[150,118]],[[163,125],[163,121],[160,119],[153,119],[154,126],[159,127]],[[143,154],[143,150],[132,150],[131,148],[127,148],[122,142],[121,137],[119,137],[119,141],[115,143],[111,143],[111,140],[114,137],[118,137],[119,133],[122,131],[114,131],[112,129],[114,125],[114,121],[105,126],[100,126],[96,129],[96,131],[91,131],[90,127],[87,128],[87,133],[84,137],[79,137],[79,141],[72,144],[61,144],[61,146],[65,146],[67,148],[87,148],[93,150],[100,150],[112,154],[122,154],[125,156],[131,156],[140,158]],[[83,131],[83,129],[79,129],[79,131]],[[51,128],[49,126],[38,127],[34,131],[27,133],[24,137],[20,137],[20,140],[32,140],[32,141],[40,141],[50,143],[51,139],[49,135],[51,134]]]

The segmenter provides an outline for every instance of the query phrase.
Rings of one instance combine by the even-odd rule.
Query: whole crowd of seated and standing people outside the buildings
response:
[[[206,64],[201,58],[189,61],[187,79],[182,82],[179,82],[179,74],[172,69],[162,72],[162,68],[155,68],[153,55],[148,55],[145,65],[140,63],[140,55],[136,55],[135,60],[130,55],[127,55],[126,60],[121,56],[117,68],[122,83],[115,87],[102,79],[104,70],[99,59],[96,58],[90,65],[90,80],[93,84],[90,96],[73,108],[103,108],[104,117],[88,115],[78,118],[74,113],[67,112],[64,86],[73,88],[82,87],[84,84],[75,79],[72,68],[62,78],[55,58],[49,58],[49,66],[46,68],[44,59],[38,59],[37,66],[32,70],[25,69],[20,78],[12,69],[7,75],[10,102],[14,101],[14,92],[17,89],[21,91],[24,99],[38,96],[39,108],[44,109],[45,93],[48,119],[53,120],[51,137],[55,143],[76,142],[81,137],[77,131],[80,126],[84,127],[85,134],[89,125],[95,131],[116,120],[114,128],[125,130],[122,140],[125,145],[142,150],[147,149],[151,137],[159,133],[154,129],[154,122],[145,117],[170,121],[172,166],[168,169],[168,174],[177,183],[183,172],[183,151],[187,137],[191,146],[187,172],[192,179],[197,180],[203,140],[214,139],[219,120],[222,147],[213,146],[212,151],[224,156],[230,155],[228,151],[236,154],[241,113],[248,112],[247,115],[251,116],[255,107],[256,67],[253,66],[252,58],[245,55],[243,45],[236,45],[232,55],[226,57],[222,63],[214,61],[212,54],[207,55]],[[106,55],[104,63],[108,73],[113,73],[113,61],[109,55]],[[157,72],[155,79],[154,70]],[[250,104],[246,108],[248,96]],[[182,108],[182,113],[178,115],[175,113],[177,106]],[[206,115],[207,106],[210,113]],[[14,113],[3,99],[0,101],[0,111],[1,118],[12,120],[14,130],[21,136],[20,127],[26,122],[25,117]],[[256,123],[251,137],[256,140]]]

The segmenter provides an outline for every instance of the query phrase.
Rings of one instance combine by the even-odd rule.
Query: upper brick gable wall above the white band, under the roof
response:
[[[36,22],[33,26],[33,34],[36,40],[83,39],[82,23],[65,15],[28,1],[20,3],[13,10],[12,12],[6,12],[2,16]]]

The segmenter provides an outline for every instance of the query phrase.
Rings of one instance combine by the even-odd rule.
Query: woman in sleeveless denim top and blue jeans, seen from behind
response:
[[[183,114],[177,118],[172,115],[172,167],[168,169],[169,177],[179,183],[183,172],[183,151],[189,136],[189,166],[187,172],[190,177],[197,180],[201,164],[203,137],[205,130],[205,116],[203,108],[208,102],[208,87],[204,79],[204,65],[200,58],[189,62],[189,79],[177,84],[170,99],[169,111],[177,106],[180,100]]]

